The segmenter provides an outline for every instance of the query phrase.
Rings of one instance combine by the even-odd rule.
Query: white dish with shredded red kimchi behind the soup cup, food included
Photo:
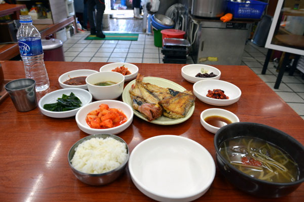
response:
[[[118,72],[125,76],[125,81],[135,79],[138,74],[138,67],[131,63],[109,63],[99,69],[100,72]]]

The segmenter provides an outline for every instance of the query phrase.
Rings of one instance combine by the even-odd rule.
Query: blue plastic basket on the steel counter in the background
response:
[[[226,13],[231,13],[233,18],[260,19],[267,3],[250,0],[250,3],[227,1]]]

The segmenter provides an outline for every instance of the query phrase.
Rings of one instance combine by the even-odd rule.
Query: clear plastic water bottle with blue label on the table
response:
[[[36,91],[46,90],[50,86],[50,81],[43,60],[41,35],[33,26],[31,16],[21,15],[20,24],[17,40],[24,64],[25,77],[36,81]]]

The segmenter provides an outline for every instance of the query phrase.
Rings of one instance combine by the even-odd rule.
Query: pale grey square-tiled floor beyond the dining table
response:
[[[162,48],[154,45],[153,35],[140,33],[137,41],[85,40],[89,32],[77,33],[64,42],[65,61],[72,62],[127,62],[163,63]],[[304,119],[304,80],[296,71],[293,76],[288,72],[283,76],[279,89],[274,89],[277,72],[275,63],[270,63],[265,75],[261,74],[268,49],[251,42],[245,46],[242,65],[247,65],[265,83]],[[191,57],[187,64],[193,64]]]

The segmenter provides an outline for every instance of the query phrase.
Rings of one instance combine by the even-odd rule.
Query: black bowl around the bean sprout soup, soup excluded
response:
[[[273,143],[288,153],[297,163],[299,178],[294,182],[277,183],[259,180],[230,164],[220,153],[219,146],[226,139],[251,136]],[[239,189],[261,197],[280,197],[294,191],[304,181],[304,146],[290,135],[276,128],[250,122],[232,123],[221,127],[214,136],[216,164],[223,176]]]

